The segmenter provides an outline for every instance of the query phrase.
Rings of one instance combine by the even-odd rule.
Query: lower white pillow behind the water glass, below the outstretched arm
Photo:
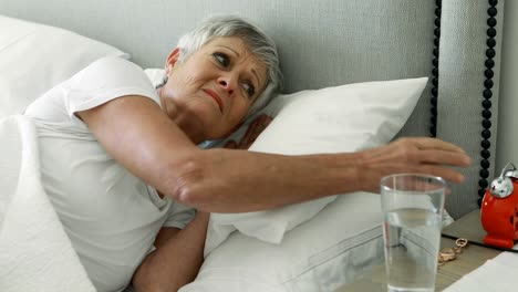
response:
[[[340,196],[280,244],[234,232],[179,292],[336,291],[383,262],[380,195]]]

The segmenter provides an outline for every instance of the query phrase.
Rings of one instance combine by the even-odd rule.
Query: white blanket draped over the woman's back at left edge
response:
[[[40,181],[38,139],[0,119],[0,291],[95,291]]]

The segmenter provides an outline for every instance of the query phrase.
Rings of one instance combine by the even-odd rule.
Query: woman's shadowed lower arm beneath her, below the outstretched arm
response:
[[[178,291],[195,280],[204,260],[209,215],[197,212],[183,230],[162,228],[149,253],[133,275],[137,292]]]

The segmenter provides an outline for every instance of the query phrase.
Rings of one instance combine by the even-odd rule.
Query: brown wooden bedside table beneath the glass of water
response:
[[[443,233],[466,238],[469,241],[483,242],[486,231],[480,225],[480,210],[474,210],[443,229]],[[441,248],[455,247],[455,240],[442,238]],[[463,275],[477,269],[487,260],[495,258],[500,251],[490,248],[469,244],[463,249],[455,261],[438,267],[435,290],[442,291]],[[335,292],[382,292],[386,291],[385,265],[374,265],[362,273],[355,282],[345,284]]]

